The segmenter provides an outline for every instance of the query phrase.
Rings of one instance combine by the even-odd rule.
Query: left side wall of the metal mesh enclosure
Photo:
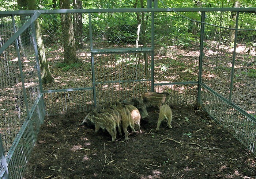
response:
[[[21,178],[44,118],[39,62],[31,15],[1,18],[0,132],[10,175]]]

